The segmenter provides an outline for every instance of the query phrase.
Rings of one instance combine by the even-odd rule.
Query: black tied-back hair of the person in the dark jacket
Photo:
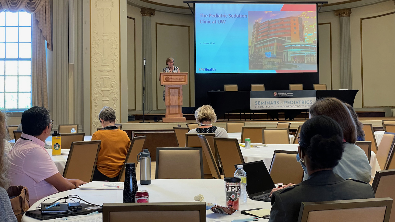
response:
[[[303,154],[310,159],[312,170],[335,167],[344,152],[343,130],[335,120],[326,116],[306,120],[299,142]]]

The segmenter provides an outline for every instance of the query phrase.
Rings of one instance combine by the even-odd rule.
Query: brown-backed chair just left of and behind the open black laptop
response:
[[[236,164],[244,164],[239,141],[235,138],[214,137],[215,151],[224,173],[224,177],[233,177]]]

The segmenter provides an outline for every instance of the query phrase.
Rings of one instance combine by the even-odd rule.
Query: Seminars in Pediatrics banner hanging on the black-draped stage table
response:
[[[316,90],[251,91],[250,109],[308,109]]]

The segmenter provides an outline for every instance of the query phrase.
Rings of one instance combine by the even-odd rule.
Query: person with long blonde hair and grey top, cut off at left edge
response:
[[[6,116],[0,111],[0,123],[6,122]],[[7,178],[7,171],[9,167],[8,160],[6,158],[4,143],[8,143],[6,140],[7,133],[6,128],[0,128],[0,221],[1,222],[17,222],[17,218],[11,207],[11,202],[7,194],[9,181]]]

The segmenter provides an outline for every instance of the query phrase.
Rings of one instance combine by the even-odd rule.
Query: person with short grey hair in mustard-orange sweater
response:
[[[100,139],[100,151],[93,181],[118,181],[130,147],[130,139],[125,131],[115,126],[115,110],[105,106],[99,113],[103,129],[92,135],[92,140]]]

